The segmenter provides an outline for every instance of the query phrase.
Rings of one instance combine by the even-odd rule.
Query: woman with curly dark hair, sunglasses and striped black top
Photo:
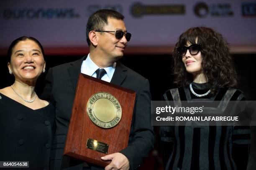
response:
[[[245,100],[234,89],[237,76],[227,42],[212,28],[195,27],[182,33],[173,58],[179,88],[166,91],[164,100]],[[160,130],[166,170],[246,170],[250,127],[161,126]]]

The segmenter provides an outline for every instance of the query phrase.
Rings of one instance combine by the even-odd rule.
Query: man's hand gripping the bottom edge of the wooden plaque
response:
[[[101,157],[102,160],[111,160],[110,164],[105,167],[105,170],[129,170],[129,160],[128,158],[117,152],[110,155]]]

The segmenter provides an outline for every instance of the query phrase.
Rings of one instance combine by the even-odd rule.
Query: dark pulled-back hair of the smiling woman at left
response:
[[[25,41],[25,40],[32,40],[32,41],[34,41],[34,42],[41,48],[41,51],[42,51],[43,56],[44,56],[44,48],[43,48],[43,46],[41,45],[41,43],[40,43],[36,38],[27,37],[27,36],[22,36],[22,37],[20,37],[20,38],[15,39],[15,40],[11,43],[11,45],[9,46],[8,51],[7,51],[8,62],[10,62],[10,57],[12,56],[14,46],[16,46],[16,44],[18,44],[20,41]]]

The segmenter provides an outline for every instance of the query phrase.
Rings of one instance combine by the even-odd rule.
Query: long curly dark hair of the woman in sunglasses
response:
[[[201,44],[202,70],[211,84],[212,92],[220,87],[237,86],[237,75],[227,42],[220,33],[207,27],[189,28],[179,36],[172,55],[175,84],[188,86],[193,81],[192,74],[186,71],[182,57],[177,51],[178,47],[185,46],[187,42]]]

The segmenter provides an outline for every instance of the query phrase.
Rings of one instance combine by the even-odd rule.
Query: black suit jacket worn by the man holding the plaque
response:
[[[49,69],[46,75],[46,86],[41,98],[51,101],[56,108],[57,127],[51,154],[53,155],[51,156],[51,165],[54,169],[60,168],[61,160],[63,160],[62,167],[66,166],[65,163],[69,166],[74,163],[72,160],[66,160],[66,157],[62,158],[62,154],[72,113],[77,80],[81,72],[82,61],[86,57],[53,67]],[[135,71],[117,62],[110,83],[136,91],[128,147],[121,150],[120,153],[128,158],[132,170],[137,169],[140,167],[143,158],[147,157],[153,149],[155,140],[150,119],[151,94],[149,82]]]

